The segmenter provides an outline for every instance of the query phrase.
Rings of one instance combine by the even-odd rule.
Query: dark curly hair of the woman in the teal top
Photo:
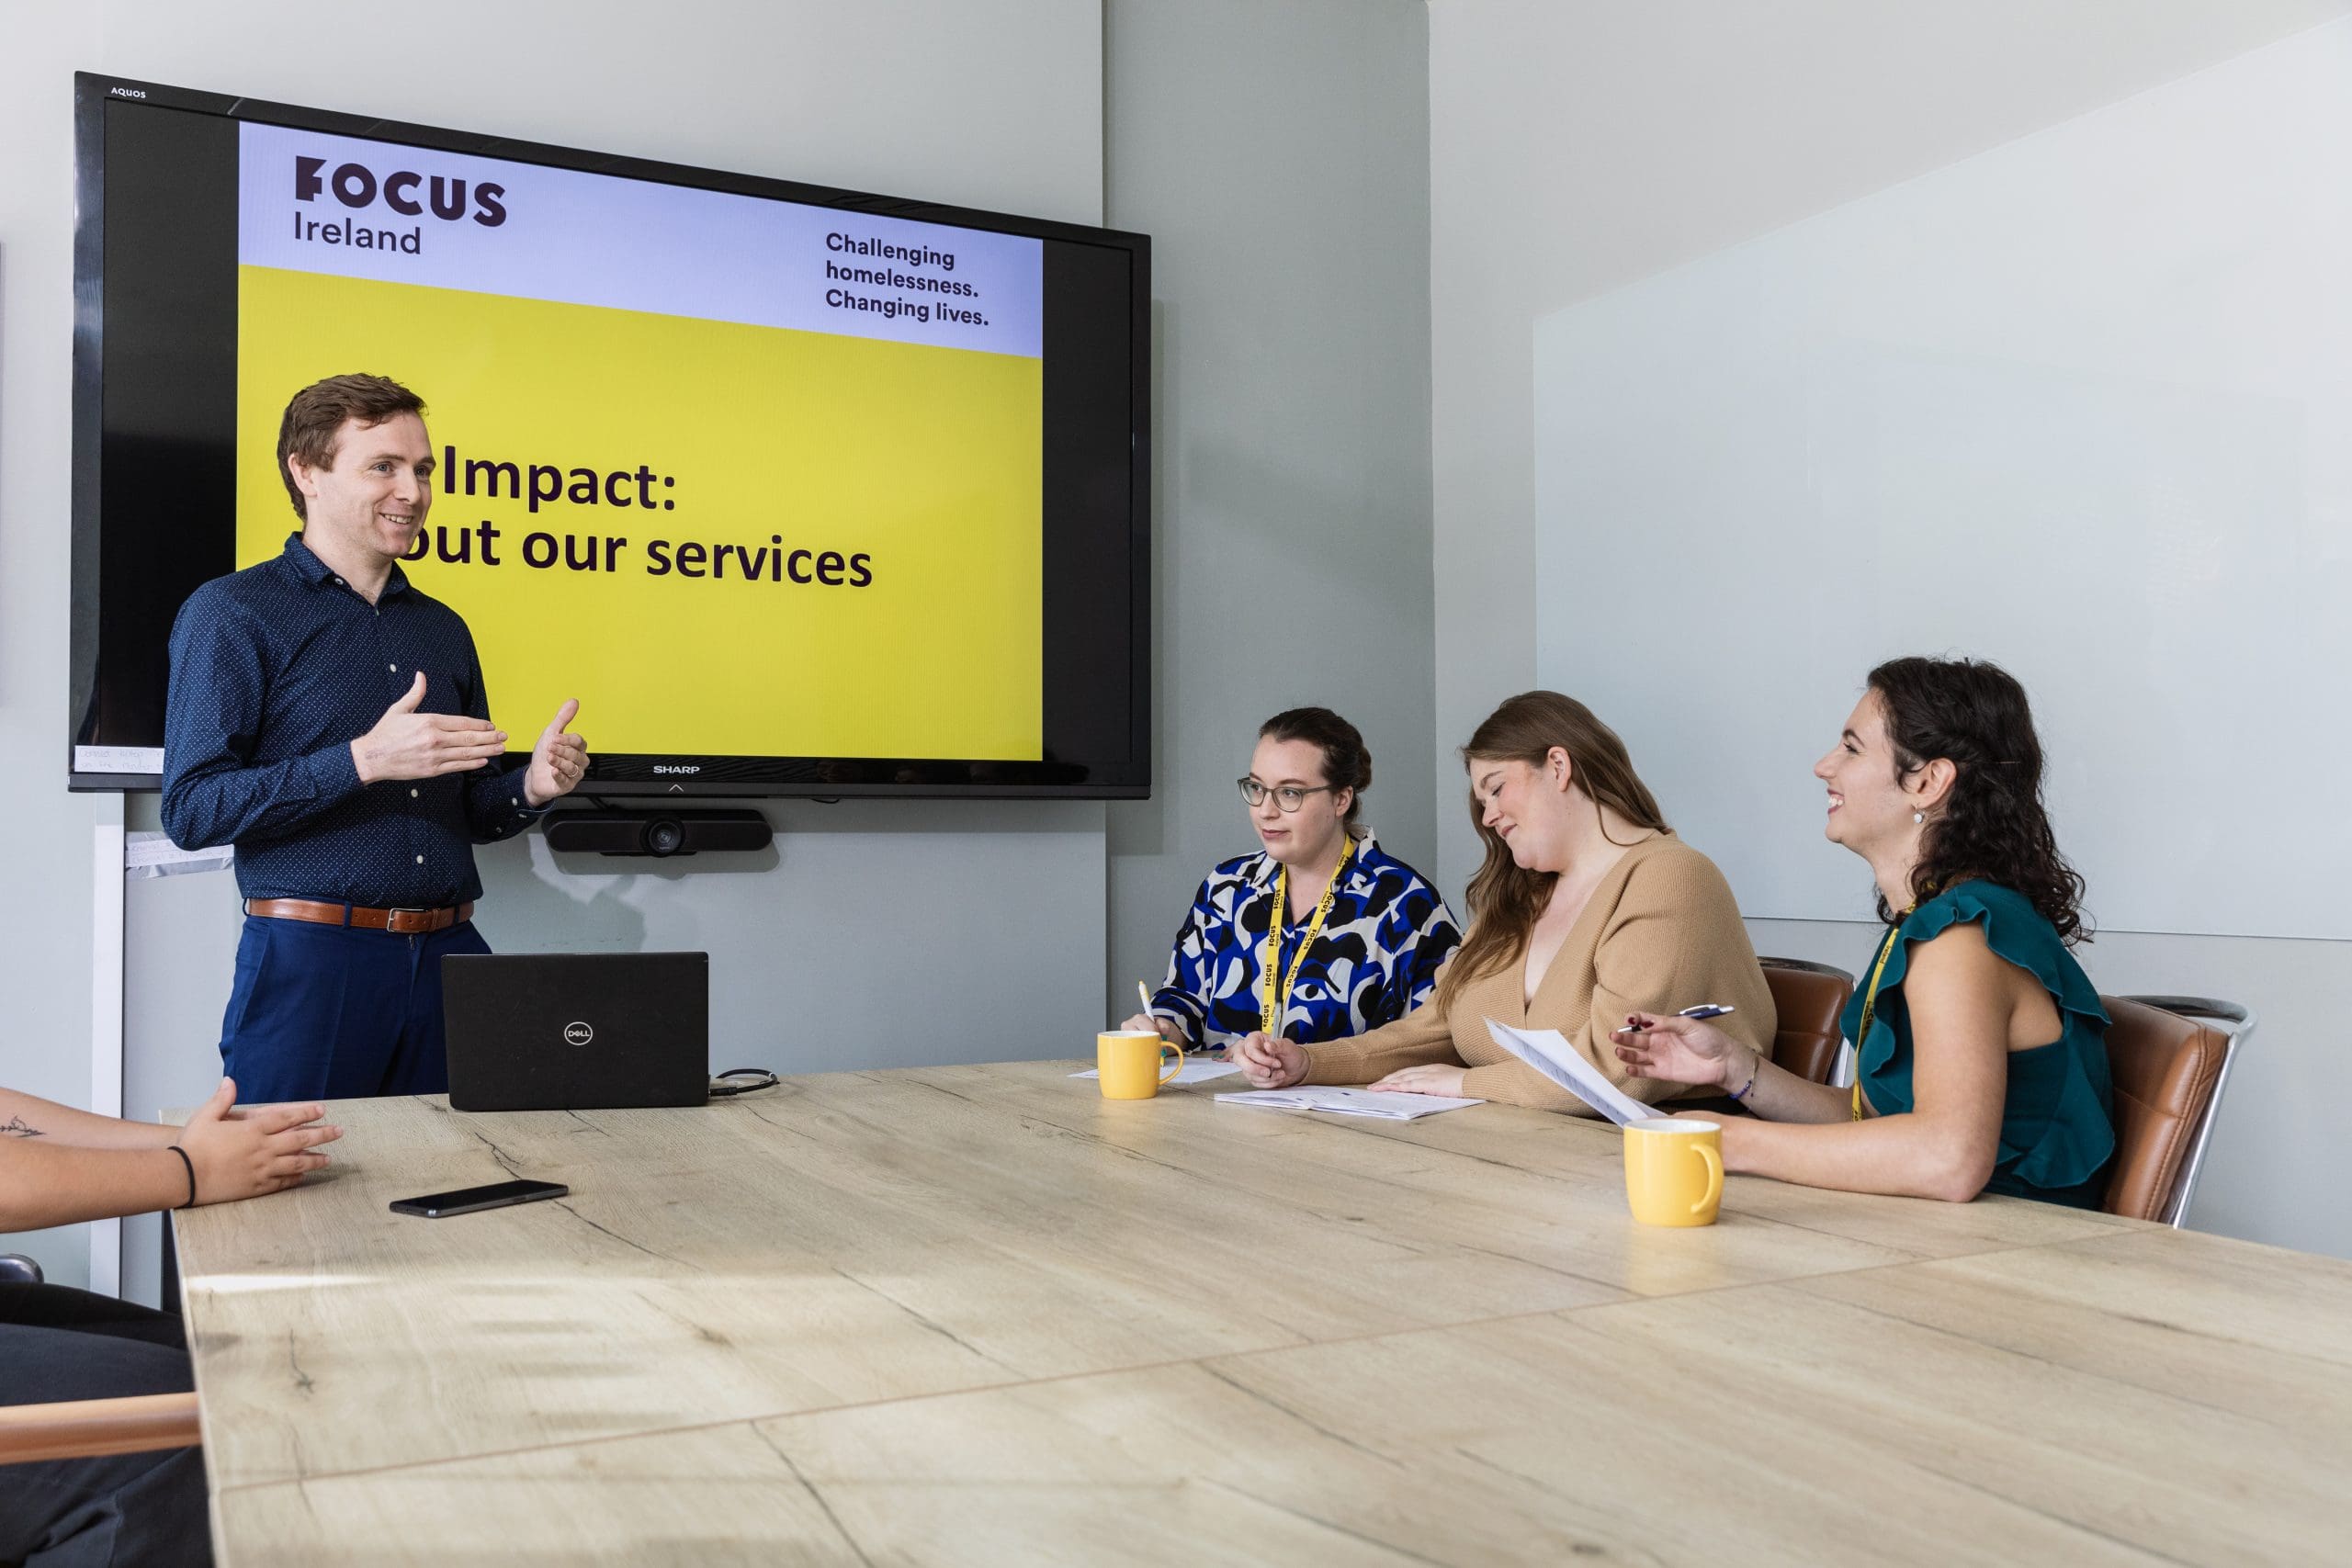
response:
[[[1957,771],[1919,839],[1912,898],[1980,877],[2025,893],[2072,947],[2091,940],[2084,884],[2042,809],[2042,741],[2025,686],[1980,658],[1889,658],[1870,672],[1898,776],[1947,757]],[[1879,919],[1896,914],[1879,896]]]

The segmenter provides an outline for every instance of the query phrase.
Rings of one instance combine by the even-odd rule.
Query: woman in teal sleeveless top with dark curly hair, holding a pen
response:
[[[2067,952],[2086,940],[2082,877],[2042,809],[2025,689],[1978,661],[1889,661],[1813,773],[1828,837],[1870,863],[1889,924],[1846,1006],[1853,1088],[1691,1018],[1628,1018],[1618,1056],[1759,1117],[1724,1119],[1726,1171],[2096,1208],[2114,1157],[2107,1013]]]

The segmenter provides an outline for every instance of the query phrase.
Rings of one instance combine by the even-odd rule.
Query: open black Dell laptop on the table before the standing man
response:
[[[708,952],[454,952],[442,1025],[452,1110],[710,1098]]]

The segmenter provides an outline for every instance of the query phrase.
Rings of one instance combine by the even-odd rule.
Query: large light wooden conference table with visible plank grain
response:
[[[2352,1265],[1740,1178],[1644,1229],[1606,1126],[1070,1067],[336,1105],[176,1215],[221,1563],[2352,1549]],[[386,1211],[506,1173],[572,1197]]]

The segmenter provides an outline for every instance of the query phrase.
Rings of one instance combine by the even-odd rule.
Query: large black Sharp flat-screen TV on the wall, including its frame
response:
[[[1150,792],[1150,242],[75,78],[73,788],[158,788],[278,421],[426,404],[409,581],[586,795]]]

